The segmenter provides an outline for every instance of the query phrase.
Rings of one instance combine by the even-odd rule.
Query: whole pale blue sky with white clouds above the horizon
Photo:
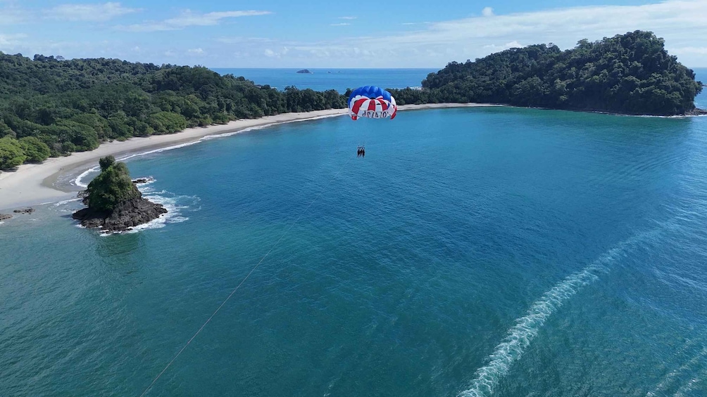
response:
[[[707,67],[707,0],[0,0],[0,51],[243,68],[441,68],[653,30]]]

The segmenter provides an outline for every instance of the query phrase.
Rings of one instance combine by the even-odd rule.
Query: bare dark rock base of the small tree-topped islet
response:
[[[101,228],[104,231],[128,231],[135,226],[146,224],[166,214],[162,204],[155,204],[142,197],[118,204],[112,212],[96,211],[91,208],[74,212],[74,219],[86,228]]]

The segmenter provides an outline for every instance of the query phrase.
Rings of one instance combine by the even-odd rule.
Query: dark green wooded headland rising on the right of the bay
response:
[[[693,71],[665,51],[663,39],[635,31],[586,39],[561,51],[537,44],[452,62],[422,81],[392,90],[398,104],[489,102],[550,109],[673,116],[695,111]]]

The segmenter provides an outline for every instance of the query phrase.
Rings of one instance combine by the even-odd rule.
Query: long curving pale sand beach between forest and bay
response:
[[[421,104],[402,105],[398,109],[432,109],[467,106],[497,106],[492,104]],[[108,155],[120,157],[124,154],[147,152],[152,149],[171,147],[196,142],[209,135],[235,133],[247,128],[272,126],[293,121],[306,121],[322,117],[343,116],[347,109],[328,109],[302,113],[287,113],[255,119],[241,119],[228,124],[209,127],[187,128],[171,135],[153,135],[147,138],[131,138],[119,142],[106,142],[90,152],[76,152],[67,157],[49,158],[42,164],[23,164],[16,171],[0,173],[0,210],[28,207],[48,202],[57,202],[76,197],[78,186],[59,183],[62,176],[78,175],[98,164],[98,159]]]

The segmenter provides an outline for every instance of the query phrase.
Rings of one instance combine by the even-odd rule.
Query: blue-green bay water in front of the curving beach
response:
[[[707,117],[402,111],[127,164],[167,218],[0,225],[0,396],[707,395]]]

